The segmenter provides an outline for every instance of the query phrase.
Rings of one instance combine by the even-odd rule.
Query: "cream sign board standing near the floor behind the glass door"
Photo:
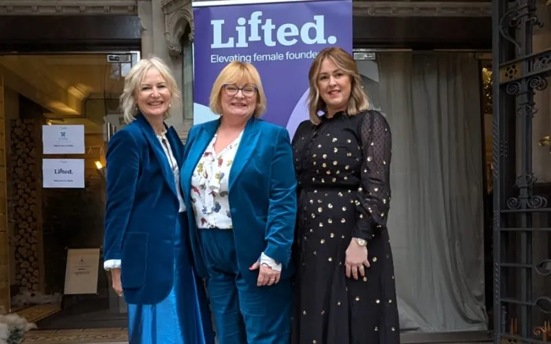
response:
[[[98,292],[99,248],[67,250],[64,294],[96,294]]]

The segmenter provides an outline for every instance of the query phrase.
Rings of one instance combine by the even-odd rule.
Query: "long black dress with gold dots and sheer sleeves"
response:
[[[391,130],[377,111],[302,122],[293,137],[298,179],[292,344],[395,344],[399,320],[386,217]],[[345,275],[346,248],[368,242],[365,277]]]

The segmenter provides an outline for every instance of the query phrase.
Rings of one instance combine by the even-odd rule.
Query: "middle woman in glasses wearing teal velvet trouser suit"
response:
[[[260,120],[266,99],[249,63],[216,79],[211,111],[192,127],[181,184],[200,277],[220,344],[286,344],[296,180],[287,130]]]

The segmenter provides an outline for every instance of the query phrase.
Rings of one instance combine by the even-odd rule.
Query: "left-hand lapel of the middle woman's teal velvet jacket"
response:
[[[184,197],[189,197],[191,191],[191,176],[194,174],[195,168],[199,163],[202,154],[205,153],[205,149],[209,146],[216,129],[218,128],[218,122],[209,122],[205,125],[199,127],[199,131],[194,138],[194,142],[187,142],[191,144],[191,149],[187,153],[187,158],[183,162],[183,171],[180,184],[182,184],[182,189],[184,190]]]

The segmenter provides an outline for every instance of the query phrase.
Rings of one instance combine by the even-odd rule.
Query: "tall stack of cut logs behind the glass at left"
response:
[[[37,138],[32,120],[10,120],[10,213],[14,227],[16,281],[23,290],[39,290],[40,175]]]

